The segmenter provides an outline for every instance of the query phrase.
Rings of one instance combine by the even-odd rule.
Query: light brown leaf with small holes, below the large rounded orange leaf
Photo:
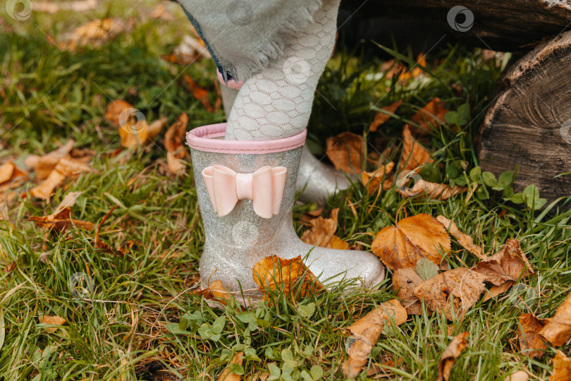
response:
[[[419,300],[424,300],[431,310],[443,313],[452,320],[451,305],[456,315],[463,315],[484,292],[484,279],[482,274],[459,267],[423,282],[414,294]]]

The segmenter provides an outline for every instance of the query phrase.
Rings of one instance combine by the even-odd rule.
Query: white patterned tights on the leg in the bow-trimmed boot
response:
[[[283,56],[245,80],[228,116],[227,140],[271,140],[307,127],[317,82],[333,51],[340,0],[324,0]]]

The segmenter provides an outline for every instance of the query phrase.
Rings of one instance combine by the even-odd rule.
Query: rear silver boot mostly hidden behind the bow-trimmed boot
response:
[[[228,85],[226,85],[220,73],[218,73],[218,79],[224,113],[226,114],[226,119],[228,119],[236,95],[238,95],[238,91],[242,87],[242,82],[237,83],[229,80]],[[323,204],[329,195],[337,191],[343,191],[349,188],[350,185],[349,179],[342,171],[337,171],[335,168],[319,161],[309,152],[307,145],[303,146],[296,183],[297,191],[302,192],[300,200]]]

